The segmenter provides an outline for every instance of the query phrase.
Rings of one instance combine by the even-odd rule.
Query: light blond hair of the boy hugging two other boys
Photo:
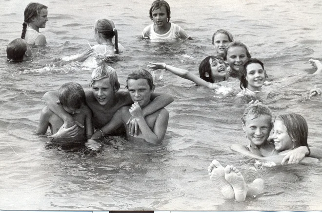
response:
[[[90,86],[93,87],[93,83],[95,81],[99,81],[103,78],[109,78],[109,82],[111,84],[111,87],[113,87],[114,91],[118,91],[120,89],[118,74],[112,67],[107,66],[106,64],[96,68],[92,72]]]

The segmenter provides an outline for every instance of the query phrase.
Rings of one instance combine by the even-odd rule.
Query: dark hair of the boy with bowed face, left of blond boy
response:
[[[63,84],[58,90],[58,99],[62,106],[79,109],[86,104],[84,89],[79,83],[69,82]]]

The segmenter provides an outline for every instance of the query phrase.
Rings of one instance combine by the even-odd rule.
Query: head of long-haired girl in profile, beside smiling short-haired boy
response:
[[[308,127],[301,115],[295,113],[279,115],[275,118],[273,129],[272,138],[276,150],[284,151],[307,146]]]

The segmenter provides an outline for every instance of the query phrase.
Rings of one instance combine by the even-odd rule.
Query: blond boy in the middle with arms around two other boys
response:
[[[91,91],[85,91],[86,104],[93,112],[94,128],[101,128],[109,123],[115,112],[122,106],[131,106],[133,101],[131,95],[126,91],[119,91],[120,83],[116,71],[107,66],[102,65],[96,68],[91,76],[90,86]],[[73,122],[73,118],[61,106],[57,105],[54,100],[57,100],[57,91],[49,91],[44,96],[44,99],[55,114],[57,114],[64,123]],[[143,117],[146,117],[159,109],[173,102],[173,97],[168,94],[152,93],[151,102],[142,109]],[[138,135],[138,125],[133,117],[129,117],[127,121],[128,133],[134,136]],[[131,133],[130,133],[131,132]],[[113,132],[111,134],[119,134]]]

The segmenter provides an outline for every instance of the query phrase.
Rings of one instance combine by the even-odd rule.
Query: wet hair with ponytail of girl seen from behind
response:
[[[113,38],[115,36],[114,49],[115,52],[119,54],[118,31],[111,19],[101,18],[97,20],[95,23],[95,31],[107,39]]]

